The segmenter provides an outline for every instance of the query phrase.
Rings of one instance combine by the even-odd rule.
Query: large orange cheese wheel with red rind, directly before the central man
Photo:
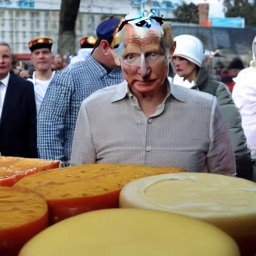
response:
[[[85,164],[39,172],[14,186],[41,195],[48,202],[50,223],[54,223],[83,212],[118,207],[120,189],[131,180],[181,171],[171,167]]]

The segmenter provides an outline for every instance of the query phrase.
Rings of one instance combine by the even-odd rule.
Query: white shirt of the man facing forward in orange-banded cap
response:
[[[52,72],[52,75],[48,80],[39,80],[35,78],[35,71],[34,71],[32,78],[27,78],[27,80],[31,81],[34,84],[34,99],[35,99],[37,116],[41,107],[42,100],[45,96],[46,90],[54,74],[55,74],[55,71]]]

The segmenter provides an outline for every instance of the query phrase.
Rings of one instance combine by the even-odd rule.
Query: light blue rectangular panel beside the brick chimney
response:
[[[244,28],[245,19],[241,17],[210,18],[210,25],[212,27]]]

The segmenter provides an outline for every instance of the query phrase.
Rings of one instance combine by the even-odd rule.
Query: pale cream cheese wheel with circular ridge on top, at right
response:
[[[256,253],[256,183],[210,173],[173,173],[140,178],[120,192],[122,208],[179,213],[213,224]]]

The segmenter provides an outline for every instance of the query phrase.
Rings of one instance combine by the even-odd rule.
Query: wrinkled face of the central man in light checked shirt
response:
[[[140,93],[156,91],[167,76],[168,57],[159,37],[136,37],[133,28],[127,25],[120,52],[124,79]]]

